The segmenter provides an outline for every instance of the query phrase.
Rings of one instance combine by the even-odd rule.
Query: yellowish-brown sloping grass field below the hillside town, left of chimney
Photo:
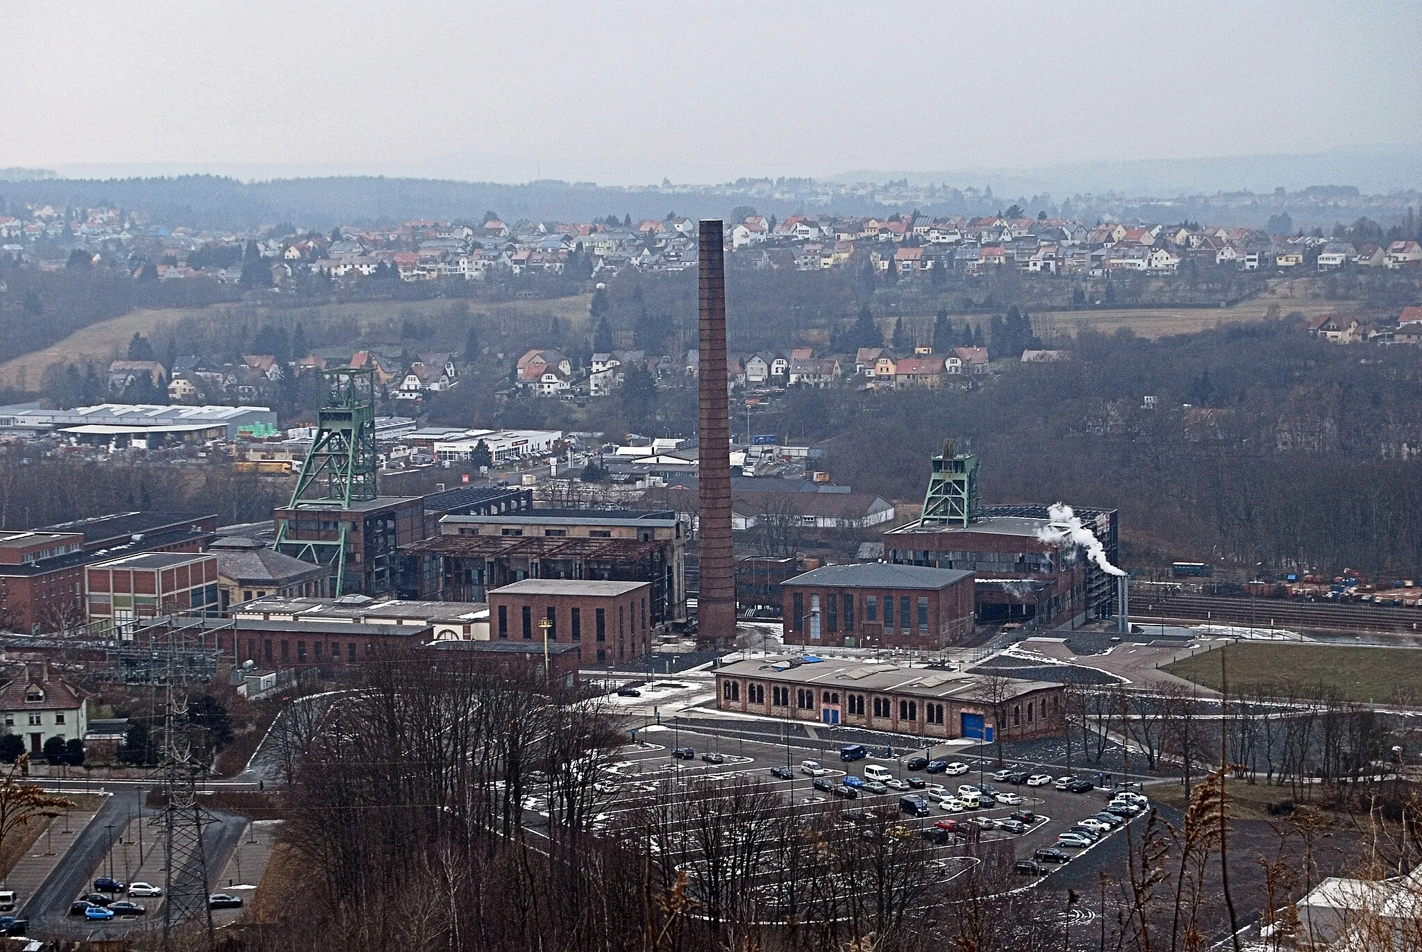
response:
[[[479,302],[471,300],[469,307],[476,313],[482,312],[495,317],[553,314],[569,320],[580,320],[587,316],[587,302],[589,295],[576,295],[573,297],[555,297],[549,300],[510,300],[498,305],[481,305]],[[414,302],[380,300],[354,305],[321,305],[313,310],[319,310],[323,314],[334,317],[354,317],[356,322],[364,329],[370,324],[398,316],[407,309],[414,310],[415,313],[427,313],[444,310],[449,306],[449,299]],[[97,324],[90,324],[82,330],[77,330],[64,340],[43,350],[34,350],[21,357],[16,357],[14,360],[7,360],[0,364],[0,383],[24,386],[28,390],[34,390],[40,383],[40,377],[44,374],[44,369],[53,363],[92,361],[97,364],[107,364],[114,359],[115,353],[122,354],[125,351],[129,339],[135,333],[151,336],[154,332],[162,330],[164,326],[176,323],[183,317],[193,314],[213,314],[233,307],[233,305],[215,305],[208,309],[172,307],[131,310],[121,317],[104,320]],[[289,312],[267,312],[266,309],[259,309],[259,319],[264,313],[284,314]]]

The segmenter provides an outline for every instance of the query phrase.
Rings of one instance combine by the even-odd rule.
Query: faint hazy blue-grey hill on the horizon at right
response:
[[[1076,194],[1196,195],[1213,192],[1290,192],[1310,185],[1354,185],[1364,194],[1422,189],[1422,144],[1355,145],[1305,155],[1230,155],[1193,159],[1122,159],[1062,162],[1024,168],[990,165],[937,172],[857,169],[838,182],[947,182],[958,188],[991,186],[998,195]]]

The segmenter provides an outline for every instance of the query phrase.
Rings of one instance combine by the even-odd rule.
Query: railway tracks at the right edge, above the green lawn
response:
[[[1132,591],[1130,615],[1133,618],[1194,619],[1295,630],[1422,633],[1422,609],[1273,598],[1165,595],[1162,592]]]

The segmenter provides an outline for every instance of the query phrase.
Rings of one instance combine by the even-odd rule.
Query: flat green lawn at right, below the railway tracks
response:
[[[1422,700],[1422,649],[1243,642],[1219,650],[1231,690],[1291,682],[1304,689],[1335,687],[1342,699],[1359,703]],[[1219,690],[1219,650],[1182,657],[1162,670]]]

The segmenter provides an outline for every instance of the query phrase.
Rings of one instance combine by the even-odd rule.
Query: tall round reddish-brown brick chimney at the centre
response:
[[[697,354],[701,508],[701,591],[698,640],[735,638],[735,559],[731,554],[731,407],[725,369],[725,235],[721,219],[702,219],[698,232],[700,351]]]

